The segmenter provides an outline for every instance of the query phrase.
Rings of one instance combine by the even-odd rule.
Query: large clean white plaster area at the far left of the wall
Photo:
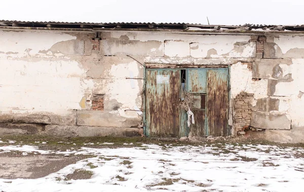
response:
[[[76,37],[54,31],[0,31],[2,113],[80,109],[84,69],[76,60],[48,53],[54,44],[72,39]]]

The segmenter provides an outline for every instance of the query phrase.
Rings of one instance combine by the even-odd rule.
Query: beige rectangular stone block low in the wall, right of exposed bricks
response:
[[[290,119],[286,114],[252,112],[250,126],[261,129],[286,129],[289,130]]]

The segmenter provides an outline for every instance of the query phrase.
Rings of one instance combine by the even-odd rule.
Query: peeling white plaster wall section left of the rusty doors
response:
[[[125,110],[141,108],[143,67],[127,56],[99,55],[94,37],[88,32],[0,30],[0,133],[25,123],[20,133],[136,134],[131,127],[141,123],[141,116]],[[102,95],[102,111],[91,109],[96,94]],[[94,131],[84,134],[87,126]]]

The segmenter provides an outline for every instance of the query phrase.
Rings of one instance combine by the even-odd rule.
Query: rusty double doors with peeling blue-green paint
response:
[[[146,135],[153,137],[229,135],[227,68],[146,69]],[[179,106],[191,95],[195,123],[187,126]]]

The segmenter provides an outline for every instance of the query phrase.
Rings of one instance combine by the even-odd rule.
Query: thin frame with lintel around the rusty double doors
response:
[[[223,68],[227,68],[227,88],[228,88],[228,113],[227,113],[227,119],[228,119],[228,123],[227,123],[227,130],[228,130],[228,135],[231,135],[231,128],[229,125],[229,120],[230,120],[230,114],[231,114],[231,109],[230,109],[230,97],[231,97],[231,85],[230,85],[230,73],[231,73],[231,67],[230,65],[202,65],[202,66],[198,66],[198,65],[173,65],[173,64],[169,64],[169,65],[159,65],[156,66],[153,63],[145,63],[144,65],[144,69],[143,69],[143,94],[142,94],[142,104],[143,104],[143,116],[142,116],[142,122],[143,122],[143,134],[147,137],[150,136],[150,130],[147,129],[146,127],[146,83],[147,83],[147,79],[146,79],[146,71],[149,69],[179,69],[179,70],[186,70],[186,69],[223,69]],[[187,74],[187,73],[186,73]],[[187,77],[186,77],[187,78]],[[208,119],[206,119],[206,122],[208,121]],[[188,127],[186,127],[186,135],[188,136]]]

